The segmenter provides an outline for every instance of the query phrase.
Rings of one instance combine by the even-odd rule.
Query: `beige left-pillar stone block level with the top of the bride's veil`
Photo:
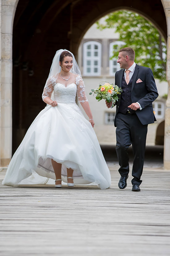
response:
[[[11,34],[2,34],[1,36],[1,58],[2,59],[12,59],[12,36]]]

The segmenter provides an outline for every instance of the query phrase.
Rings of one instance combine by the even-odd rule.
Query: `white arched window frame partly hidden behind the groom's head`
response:
[[[117,63],[117,59],[114,58],[110,60],[110,57],[113,56],[113,45],[117,44],[120,48],[125,45],[125,42],[122,41],[114,41],[109,44],[109,74],[110,76],[115,76],[116,71],[121,70],[120,64]],[[113,64],[113,62],[116,61],[116,65]],[[116,68],[116,71],[113,72],[113,69]]]

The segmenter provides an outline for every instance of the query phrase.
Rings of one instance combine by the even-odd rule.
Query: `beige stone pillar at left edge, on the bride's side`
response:
[[[0,95],[0,160],[9,164],[12,149],[12,31],[19,0],[1,1],[1,95]]]

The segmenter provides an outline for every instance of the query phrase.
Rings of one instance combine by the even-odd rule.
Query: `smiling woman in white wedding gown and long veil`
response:
[[[101,189],[110,186],[84,88],[74,55],[58,50],[42,94],[47,106],[13,155],[3,185],[43,184],[51,178],[55,187],[62,187],[62,181],[68,186],[91,182]],[[76,104],[76,93],[89,121]]]

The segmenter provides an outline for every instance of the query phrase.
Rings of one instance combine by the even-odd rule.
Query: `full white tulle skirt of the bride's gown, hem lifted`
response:
[[[13,155],[2,184],[43,184],[46,178],[55,179],[51,159],[62,164],[64,182],[66,168],[72,168],[74,184],[93,182],[101,189],[111,184],[96,134],[76,103],[58,102],[39,113]]]

